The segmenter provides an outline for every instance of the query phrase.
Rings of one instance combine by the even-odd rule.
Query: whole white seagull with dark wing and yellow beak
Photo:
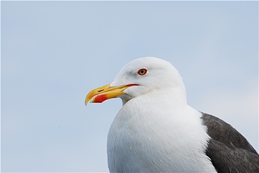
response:
[[[85,100],[120,97],[107,137],[111,173],[259,173],[259,154],[231,125],[187,105],[173,65],[138,58]]]

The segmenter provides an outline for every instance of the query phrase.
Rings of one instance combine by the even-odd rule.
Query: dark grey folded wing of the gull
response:
[[[231,125],[202,113],[203,124],[211,137],[206,155],[218,173],[259,173],[259,154]]]

